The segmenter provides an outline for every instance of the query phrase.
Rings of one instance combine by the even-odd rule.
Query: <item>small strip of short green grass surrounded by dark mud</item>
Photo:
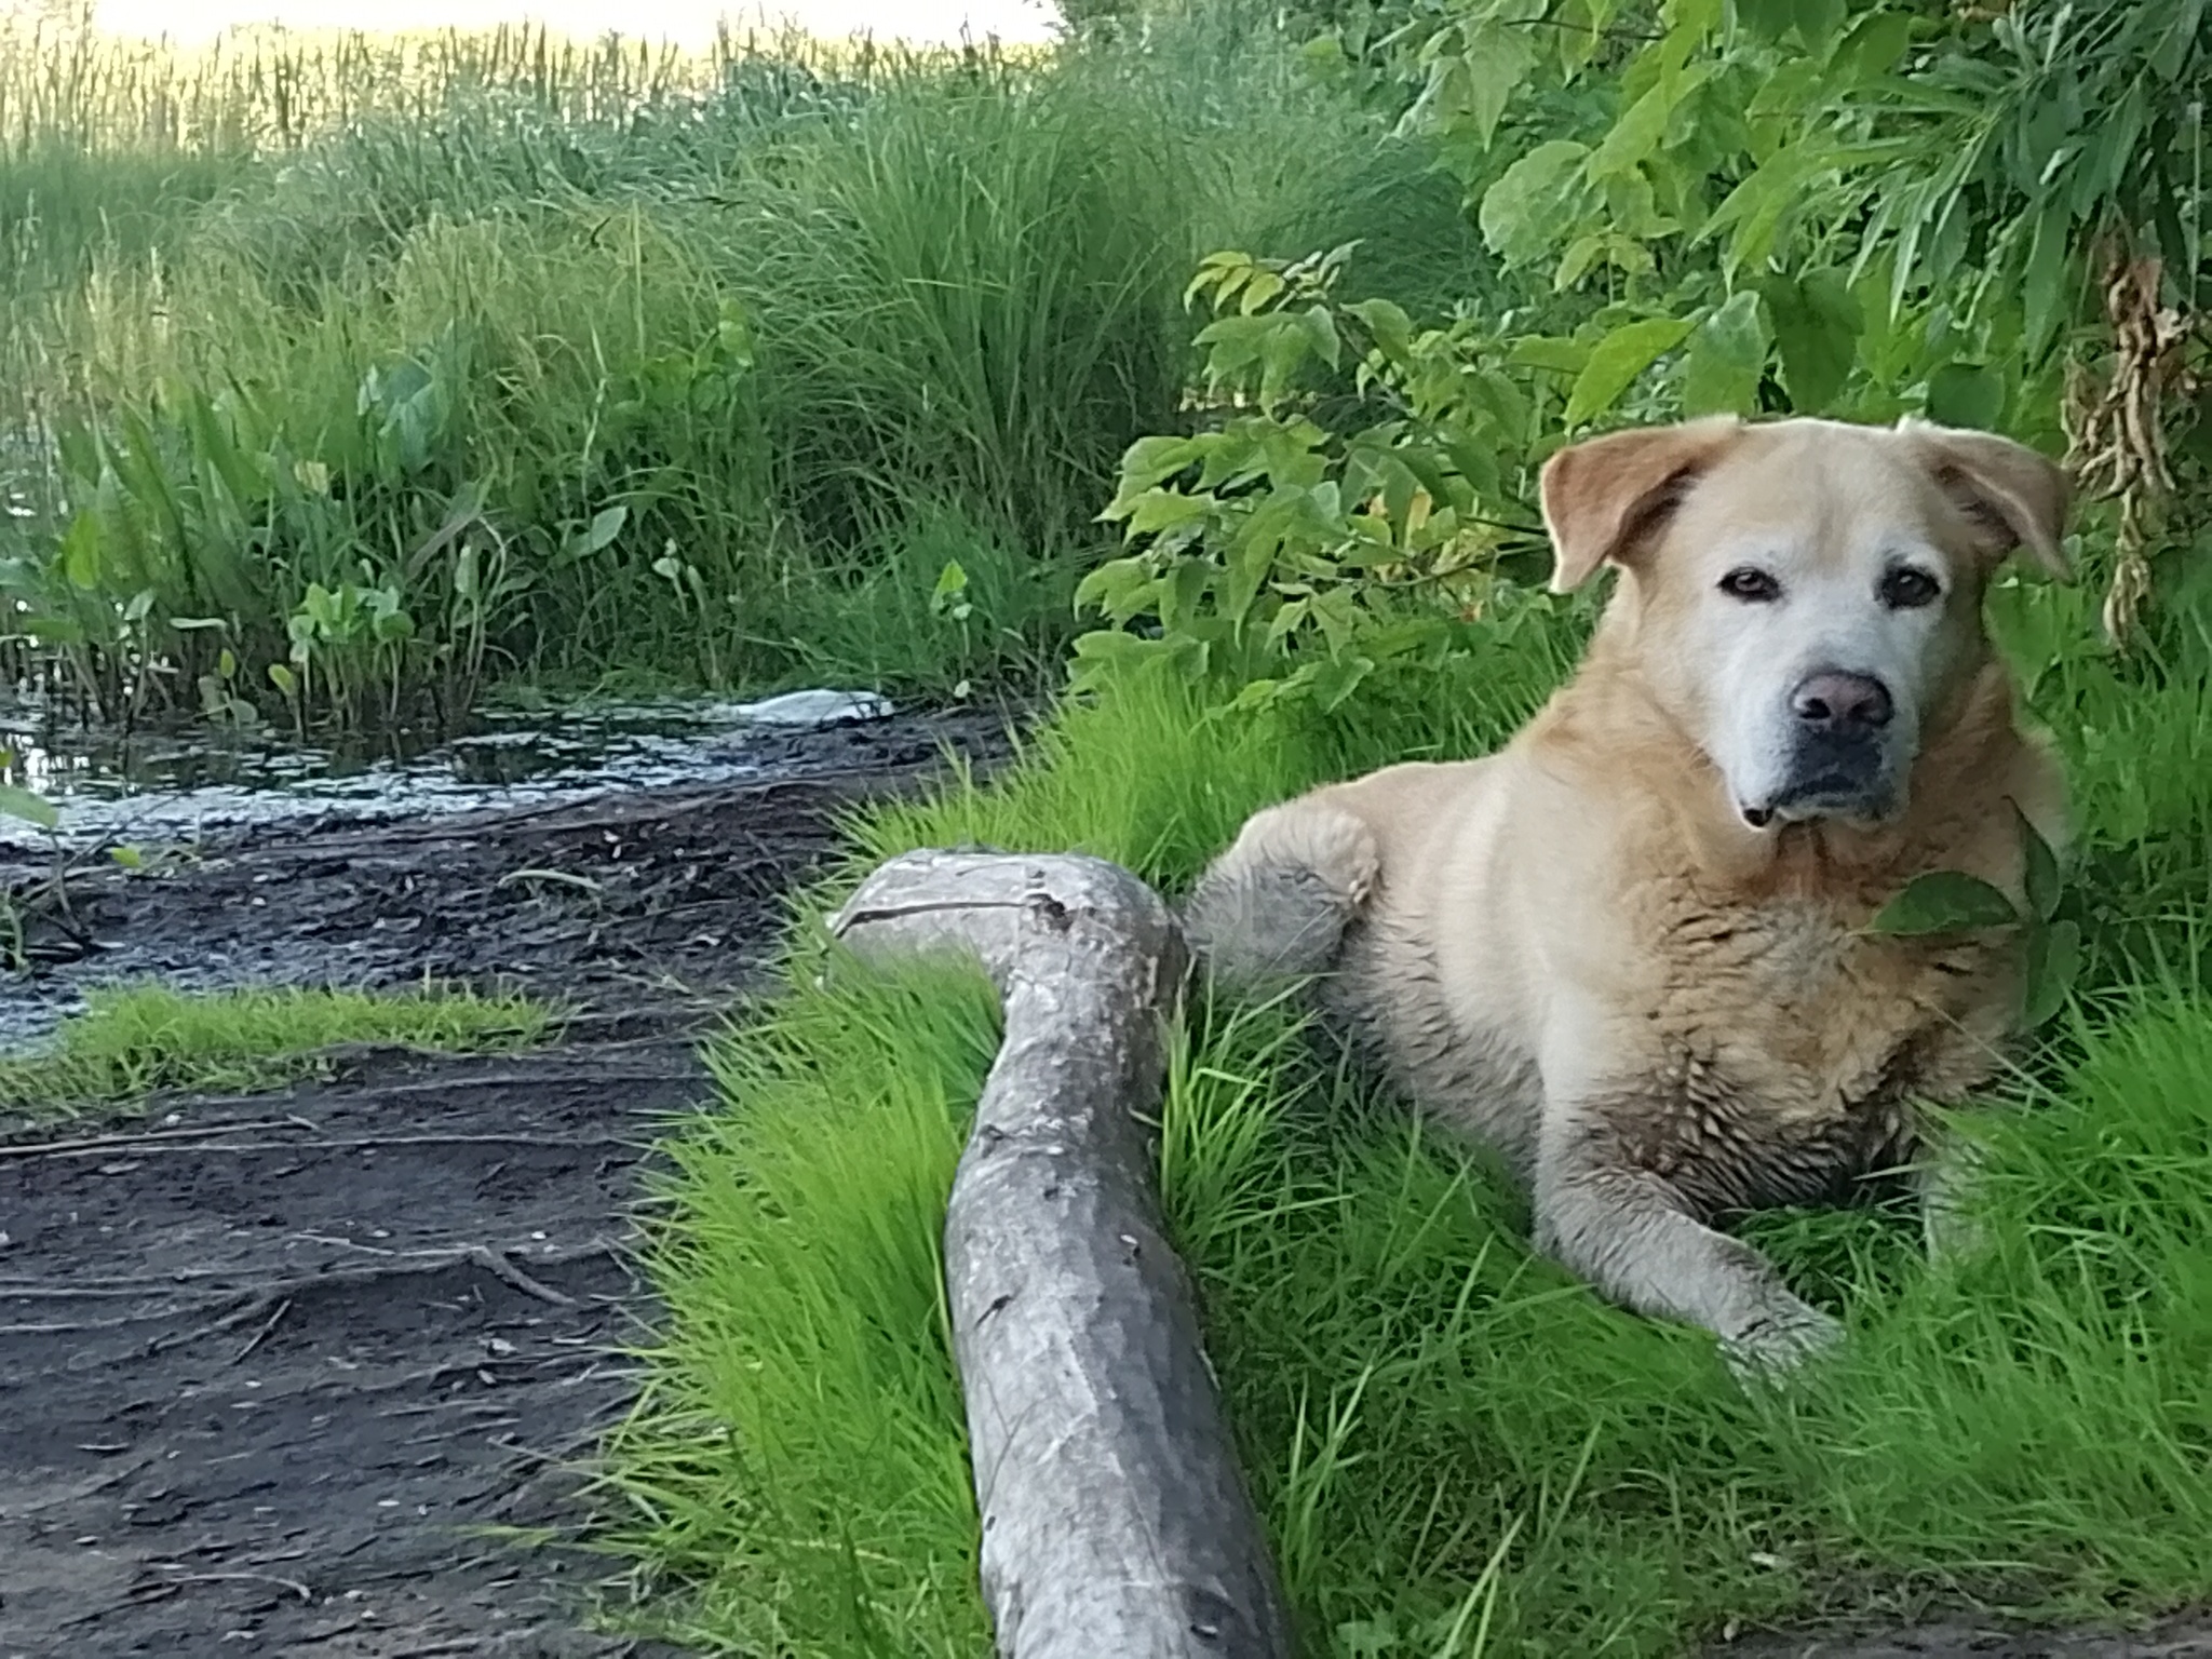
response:
[[[560,1011],[462,989],[173,991],[104,987],[46,1053],[0,1060],[0,1117],[42,1124],[155,1093],[237,1095],[307,1077],[330,1048],[403,1044],[442,1053],[529,1048]]]

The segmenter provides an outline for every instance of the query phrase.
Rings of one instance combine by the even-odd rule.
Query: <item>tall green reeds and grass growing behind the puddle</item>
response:
[[[1427,310],[1475,259],[1380,133],[1248,0],[1051,55],[0,33],[0,657],[352,723],[1035,686],[1199,257],[1365,237]]]

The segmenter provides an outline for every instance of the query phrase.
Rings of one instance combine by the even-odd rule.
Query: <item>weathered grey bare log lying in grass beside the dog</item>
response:
[[[1183,978],[1117,865],[916,852],[832,931],[980,956],[1006,1009],[945,1217],[945,1283],[1006,1659],[1285,1659],[1290,1630],[1141,1115]]]

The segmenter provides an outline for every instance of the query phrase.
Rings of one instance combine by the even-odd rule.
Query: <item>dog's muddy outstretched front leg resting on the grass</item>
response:
[[[1551,1130],[1551,1126],[1546,1126]],[[1765,1256],[1708,1228],[1659,1175],[1617,1157],[1604,1128],[1566,1121],[1537,1155],[1537,1248],[1641,1314],[1703,1325],[1730,1360],[1787,1367],[1843,1327]]]

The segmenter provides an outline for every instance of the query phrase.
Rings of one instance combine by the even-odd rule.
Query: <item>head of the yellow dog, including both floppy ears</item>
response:
[[[2066,480],[1918,420],[1617,431],[1544,467],[1553,588],[1626,573],[1608,630],[1752,830],[1902,812],[1922,734],[1989,655],[1982,591],[2066,575]]]

